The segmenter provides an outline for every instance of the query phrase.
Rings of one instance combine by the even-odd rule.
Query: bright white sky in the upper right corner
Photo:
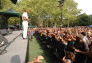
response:
[[[78,3],[78,8],[82,9],[82,13],[92,14],[92,0],[74,0]]]

